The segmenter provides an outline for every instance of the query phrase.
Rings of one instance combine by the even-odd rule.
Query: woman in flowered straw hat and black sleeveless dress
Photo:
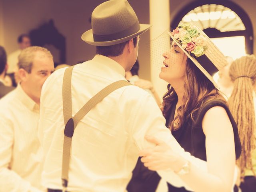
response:
[[[157,146],[140,152],[142,162],[158,172],[171,168],[192,191],[230,192],[241,144],[234,118],[212,78],[227,60],[197,26],[181,24],[169,35],[173,41],[170,50],[163,54],[164,67],[159,74],[169,83],[162,112],[179,144],[207,161],[208,173],[200,172],[196,165],[152,137],[148,140]],[[181,170],[175,170],[178,163],[183,163]],[[168,188],[172,192],[187,191],[171,185]]]

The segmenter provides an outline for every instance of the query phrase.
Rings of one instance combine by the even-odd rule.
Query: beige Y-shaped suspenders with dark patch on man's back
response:
[[[62,96],[63,96],[63,116],[64,116],[64,143],[63,143],[63,154],[62,154],[62,186],[63,191],[66,191],[68,186],[68,169],[70,160],[70,147],[72,136],[78,122],[103,98],[108,96],[114,90],[123,86],[131,85],[126,80],[120,80],[114,82],[94,97],[92,97],[73,117],[72,117],[72,102],[71,102],[71,76],[74,66],[67,68],[64,72],[63,85],[62,85]]]

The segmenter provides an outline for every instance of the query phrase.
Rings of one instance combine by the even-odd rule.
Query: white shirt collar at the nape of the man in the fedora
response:
[[[118,74],[124,76],[125,75],[125,70],[124,68],[116,61],[112,60],[109,57],[103,56],[103,55],[95,55],[94,58],[92,59],[94,62],[104,64],[105,66],[108,66],[112,70],[118,72]]]

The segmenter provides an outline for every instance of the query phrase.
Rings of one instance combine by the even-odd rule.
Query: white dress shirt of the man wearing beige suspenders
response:
[[[45,158],[42,183],[53,189],[62,189],[65,69],[55,71],[46,80],[41,95],[39,138]],[[72,116],[104,87],[125,80],[124,74],[120,64],[102,55],[77,64],[72,73]],[[153,146],[145,140],[146,134],[164,140],[193,164],[207,169],[206,162],[184,153],[166,128],[152,96],[137,86],[125,86],[109,94],[78,122],[72,138],[68,191],[126,191],[139,150]],[[175,186],[184,185],[172,171],[163,176]]]

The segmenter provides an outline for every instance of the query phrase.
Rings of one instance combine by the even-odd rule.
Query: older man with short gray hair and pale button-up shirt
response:
[[[42,156],[38,140],[40,94],[54,71],[52,54],[38,46],[18,58],[20,84],[0,100],[0,192],[38,192]]]

